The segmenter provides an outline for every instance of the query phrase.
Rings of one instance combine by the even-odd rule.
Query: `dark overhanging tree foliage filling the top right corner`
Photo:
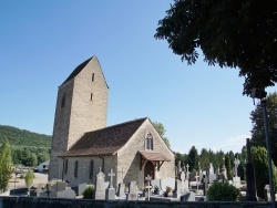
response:
[[[182,61],[194,64],[197,49],[209,65],[239,67],[244,94],[277,82],[276,1],[175,0],[158,21],[156,39],[165,39]]]

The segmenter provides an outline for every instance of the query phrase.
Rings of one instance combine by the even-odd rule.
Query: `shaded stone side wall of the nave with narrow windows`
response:
[[[96,175],[101,170],[105,175],[105,181],[110,181],[107,174],[113,169],[116,171],[116,155],[115,156],[105,156],[104,157],[104,167],[103,167],[103,159],[101,157],[69,157],[69,165],[68,165],[68,173],[63,175],[64,180],[69,180],[71,186],[78,184],[93,184],[95,185]],[[74,177],[74,166],[75,162],[78,160],[78,177]],[[93,177],[90,179],[90,164],[93,160]],[[115,181],[113,186],[116,186]]]

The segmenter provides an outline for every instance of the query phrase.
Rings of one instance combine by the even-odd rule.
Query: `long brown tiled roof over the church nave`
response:
[[[61,157],[113,155],[137,131],[146,117],[85,133]]]

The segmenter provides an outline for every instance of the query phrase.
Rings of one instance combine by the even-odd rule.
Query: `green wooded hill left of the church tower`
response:
[[[0,125],[0,144],[8,138],[11,147],[33,147],[45,148],[51,147],[52,136],[20,129],[12,126]]]

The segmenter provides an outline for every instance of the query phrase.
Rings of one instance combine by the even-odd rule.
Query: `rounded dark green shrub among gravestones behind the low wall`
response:
[[[215,180],[207,190],[208,201],[238,201],[240,191],[228,183]]]

